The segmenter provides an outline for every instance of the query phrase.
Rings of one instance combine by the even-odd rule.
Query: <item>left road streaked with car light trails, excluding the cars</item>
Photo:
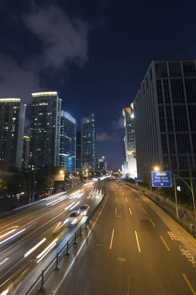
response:
[[[100,181],[88,182],[68,192],[61,192],[41,202],[23,207],[7,214],[0,220],[0,294],[10,289],[9,294],[25,294],[49,262],[73,236],[82,217],[74,227],[62,227],[62,232],[53,234],[59,222],[82,204],[90,206],[89,213],[96,207],[102,191]],[[4,216],[3,216],[4,217]],[[9,232],[9,234],[7,234]],[[15,235],[15,236],[14,236]],[[57,238],[56,245],[39,263],[35,258]],[[42,241],[42,242],[41,242]],[[28,251],[39,242],[32,253]],[[14,286],[13,286],[14,283]],[[11,287],[12,288],[11,288]]]

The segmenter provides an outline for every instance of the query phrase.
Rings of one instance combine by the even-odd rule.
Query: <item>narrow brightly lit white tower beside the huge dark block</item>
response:
[[[133,105],[130,108],[123,109],[124,117],[124,174],[128,177],[137,177],[137,164],[136,164],[136,145],[135,145],[135,133],[134,133],[134,114]]]

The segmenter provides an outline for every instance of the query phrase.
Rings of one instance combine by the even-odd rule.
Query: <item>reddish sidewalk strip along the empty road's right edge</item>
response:
[[[150,196],[150,191],[148,189],[144,189],[144,187],[140,187],[139,185],[135,185],[133,183],[126,183],[123,182],[124,184],[131,186],[132,188],[135,188],[138,190],[139,193],[142,193],[143,191],[145,192],[144,195]],[[152,192],[151,198],[156,202],[156,193]],[[172,202],[170,199],[165,198],[163,196],[160,196],[157,194],[158,198],[158,205],[163,206],[166,210],[168,210],[172,215],[174,215],[175,219],[177,219],[177,214],[176,214],[176,207],[175,203]],[[196,221],[194,218],[194,212],[192,212],[189,209],[186,209],[185,207],[178,205],[178,217],[180,218],[180,222],[182,221],[189,230],[191,230],[191,224],[195,225],[195,232],[196,232]]]

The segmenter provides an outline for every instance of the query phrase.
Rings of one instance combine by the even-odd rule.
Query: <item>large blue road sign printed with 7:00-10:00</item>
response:
[[[151,171],[152,186],[172,187],[171,171]]]

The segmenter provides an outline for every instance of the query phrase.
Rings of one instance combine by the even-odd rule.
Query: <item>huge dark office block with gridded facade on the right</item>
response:
[[[152,61],[134,100],[137,168],[196,170],[196,60]]]

